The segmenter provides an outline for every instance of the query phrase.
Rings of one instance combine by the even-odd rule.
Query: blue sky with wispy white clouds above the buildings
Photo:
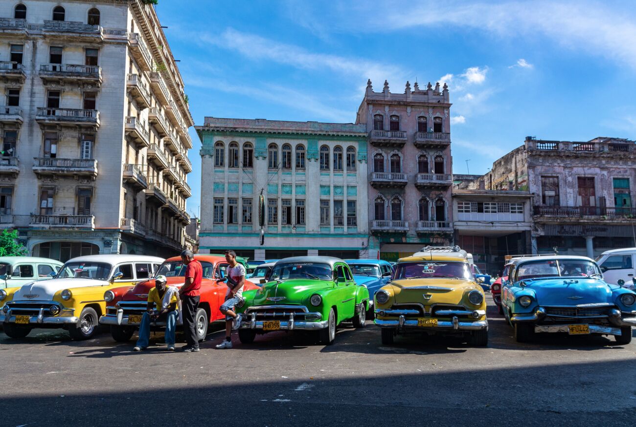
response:
[[[193,1],[157,13],[196,125],[205,116],[352,123],[376,92],[448,84],[454,173],[526,136],[636,139],[632,1]],[[190,129],[191,214],[200,140]]]

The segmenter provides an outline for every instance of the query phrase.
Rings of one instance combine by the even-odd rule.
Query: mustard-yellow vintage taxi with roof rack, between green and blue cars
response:
[[[486,301],[466,251],[458,246],[425,247],[417,254],[399,259],[391,282],[375,294],[382,344],[392,344],[397,334],[423,332],[487,345]]]

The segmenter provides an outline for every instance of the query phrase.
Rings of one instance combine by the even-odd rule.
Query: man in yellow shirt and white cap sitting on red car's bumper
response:
[[[155,287],[148,292],[148,308],[141,318],[139,339],[133,351],[148,348],[151,322],[165,322],[165,343],[168,344],[168,350],[174,351],[174,332],[179,316],[179,291],[175,287],[167,287],[166,283],[165,276],[156,276]]]

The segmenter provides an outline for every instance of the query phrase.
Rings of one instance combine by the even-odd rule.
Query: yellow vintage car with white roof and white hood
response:
[[[32,281],[13,292],[0,314],[4,333],[22,338],[36,328],[64,328],[73,339],[88,339],[106,311],[104,290],[146,280],[162,262],[143,255],[70,259],[53,280]]]

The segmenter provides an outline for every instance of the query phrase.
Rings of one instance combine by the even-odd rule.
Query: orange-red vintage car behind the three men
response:
[[[219,307],[225,302],[226,269],[229,267],[225,257],[218,255],[195,255],[203,266],[201,299],[197,315],[197,337],[203,341],[210,323],[224,320]],[[163,262],[156,275],[166,276],[169,286],[181,287],[186,269],[181,257],[172,257]],[[141,316],[148,307],[148,291],[155,287],[155,280],[149,279],[137,283],[134,287],[120,287],[107,290],[104,299],[108,303],[106,315],[99,318],[102,325],[110,325],[115,341],[128,341],[139,328]],[[251,281],[245,281],[244,290],[258,289]],[[181,319],[179,319],[181,325]],[[165,322],[153,323],[153,330],[161,330]]]

